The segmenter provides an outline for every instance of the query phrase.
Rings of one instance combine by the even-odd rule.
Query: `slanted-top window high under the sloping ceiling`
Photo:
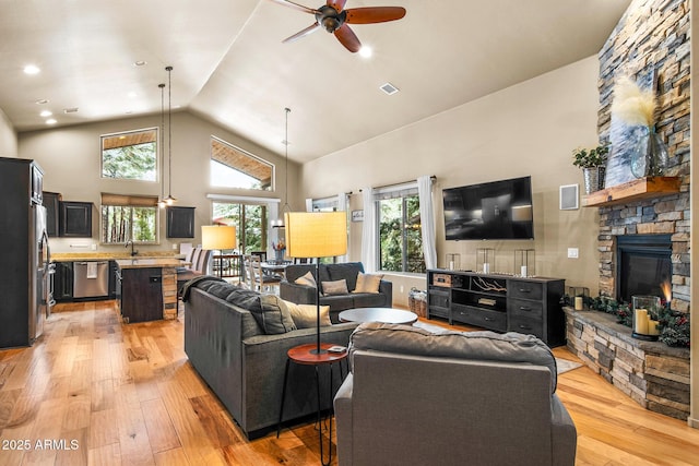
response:
[[[272,171],[272,164],[211,138],[211,186],[271,191]]]

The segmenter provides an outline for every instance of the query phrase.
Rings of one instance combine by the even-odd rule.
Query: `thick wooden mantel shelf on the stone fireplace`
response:
[[[639,178],[638,180],[583,195],[582,206],[604,207],[607,205],[626,204],[641,199],[660,198],[679,192],[680,184],[682,179],[679,177]]]

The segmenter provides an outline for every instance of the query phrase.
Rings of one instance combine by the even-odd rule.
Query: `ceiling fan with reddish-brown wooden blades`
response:
[[[337,40],[351,52],[359,51],[362,43],[348,24],[386,23],[405,16],[403,7],[365,7],[344,10],[347,0],[327,0],[327,3],[317,10],[288,0],[272,1],[316,16],[313,24],[285,38],[282,40],[283,43],[294,41],[322,27],[334,34]]]

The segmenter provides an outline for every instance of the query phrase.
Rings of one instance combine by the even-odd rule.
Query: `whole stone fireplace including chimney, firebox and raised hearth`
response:
[[[670,306],[689,312],[689,1],[635,0],[600,51],[600,140],[608,142],[613,87],[618,76],[655,72],[656,131],[667,145],[667,176],[678,192],[615,199],[600,206],[600,295],[629,302],[671,285]],[[611,187],[606,187],[607,189]],[[613,187],[612,187],[613,188]],[[611,196],[609,196],[611,199]],[[657,288],[656,288],[657,287]],[[603,312],[566,308],[568,347],[588,367],[648,409],[689,416],[688,348],[631,337]]]

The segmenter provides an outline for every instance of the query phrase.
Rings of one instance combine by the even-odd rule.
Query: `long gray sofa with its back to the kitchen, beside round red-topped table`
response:
[[[273,295],[236,288],[214,277],[193,282],[183,292],[185,353],[245,434],[262,435],[276,428],[286,351],[316,343],[316,330],[293,330],[288,322],[273,321],[270,312],[260,320],[261,308],[274,309],[277,298]],[[321,327],[321,340],[346,346],[355,327],[354,323]],[[337,387],[340,369],[334,366]],[[321,386],[327,386],[329,372],[321,371]],[[315,380],[312,367],[291,365],[284,422],[316,415]],[[329,409],[328,391],[322,390],[321,396],[323,409]]]

